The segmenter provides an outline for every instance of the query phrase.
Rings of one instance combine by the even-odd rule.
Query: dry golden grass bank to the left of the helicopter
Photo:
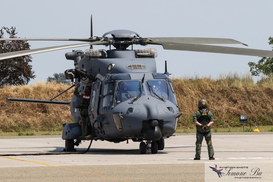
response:
[[[62,123],[71,121],[70,107],[66,105],[6,102],[6,98],[49,100],[63,90],[65,84],[36,83],[33,86],[5,86],[0,94],[0,131],[59,131]],[[73,90],[54,100],[70,101]]]

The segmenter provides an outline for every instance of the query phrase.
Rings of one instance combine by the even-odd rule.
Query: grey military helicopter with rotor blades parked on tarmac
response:
[[[109,36],[110,35],[110,36]],[[245,49],[206,44],[243,44],[233,39],[222,38],[186,38],[153,37],[143,38],[130,30],[113,30],[102,37],[93,36],[91,16],[91,37],[88,39],[0,39],[10,40],[56,40],[81,41],[86,43],[70,44],[30,49],[0,54],[1,59],[9,59],[41,52],[90,46],[85,51],[75,50],[65,54],[66,59],[74,61],[74,67],[65,71],[72,83],[81,83],[78,88],[83,93],[86,86],[91,86],[89,119],[92,126],[91,138],[80,139],[82,135],[78,106],[80,100],[75,95],[71,102],[50,100],[32,100],[7,98],[7,101],[51,103],[70,105],[73,123],[64,123],[62,139],[65,151],[75,151],[82,140],[106,140],[120,143],[132,140],[140,142],[139,150],[145,154],[147,149],[155,154],[164,149],[164,139],[176,131],[179,113],[167,64],[165,72],[158,73],[155,58],[157,51],[153,48],[133,49],[133,45],[161,45],[163,49],[196,52],[213,52],[247,56],[273,57],[273,51]],[[105,45],[109,50],[93,49],[93,45]],[[112,49],[112,46],[114,49]],[[132,49],[128,49],[131,46]],[[122,93],[122,87],[126,92]],[[70,88],[75,87],[73,84]],[[67,91],[66,89],[65,91]],[[65,92],[64,91],[64,92]],[[120,102],[118,98],[121,98]]]

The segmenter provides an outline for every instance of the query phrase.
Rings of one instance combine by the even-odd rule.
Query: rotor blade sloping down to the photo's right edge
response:
[[[167,50],[180,50],[180,51],[195,51],[195,52],[213,52],[223,54],[237,54],[246,56],[260,56],[260,57],[273,57],[273,51],[260,50],[260,49],[246,49],[238,47],[226,47],[218,45],[202,45],[202,44],[189,44],[178,42],[142,42],[146,44],[162,45],[163,49]]]

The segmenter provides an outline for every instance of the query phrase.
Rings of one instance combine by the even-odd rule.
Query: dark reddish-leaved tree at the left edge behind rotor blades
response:
[[[10,29],[2,27],[0,38],[4,38],[4,32],[9,38],[18,38],[15,35],[15,27]],[[0,53],[15,52],[29,49],[27,41],[0,41]],[[16,58],[0,60],[0,86],[3,85],[26,85],[30,79],[35,78],[32,71],[31,56],[21,56]]]

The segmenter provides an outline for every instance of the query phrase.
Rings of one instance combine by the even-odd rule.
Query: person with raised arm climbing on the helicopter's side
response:
[[[80,114],[81,114],[81,122],[79,125],[82,126],[82,136],[79,138],[89,138],[90,135],[90,129],[89,129],[89,116],[88,116],[88,106],[90,103],[90,93],[91,89],[90,86],[86,86],[84,94],[78,92],[80,84],[78,83],[75,90],[74,90],[74,95],[76,97],[79,97],[81,99],[81,105],[80,105]]]

